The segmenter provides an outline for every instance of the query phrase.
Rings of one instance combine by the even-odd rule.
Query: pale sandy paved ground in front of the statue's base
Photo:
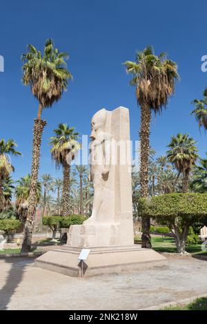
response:
[[[207,261],[168,260],[167,267],[81,280],[34,267],[31,257],[0,259],[0,310],[139,310],[207,296]]]

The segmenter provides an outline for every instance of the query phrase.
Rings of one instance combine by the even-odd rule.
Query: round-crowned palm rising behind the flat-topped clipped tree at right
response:
[[[196,141],[188,134],[177,134],[172,136],[168,145],[168,160],[178,171],[178,176],[183,174],[183,192],[188,192],[189,174],[198,158]]]

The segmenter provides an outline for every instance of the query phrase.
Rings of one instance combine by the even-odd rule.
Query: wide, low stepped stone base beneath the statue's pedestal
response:
[[[78,260],[81,247],[64,245],[60,250],[48,251],[34,261],[34,265],[68,276],[82,276],[82,264]],[[150,249],[137,245],[118,247],[91,247],[83,261],[83,276],[137,271],[168,265],[167,259]]]

